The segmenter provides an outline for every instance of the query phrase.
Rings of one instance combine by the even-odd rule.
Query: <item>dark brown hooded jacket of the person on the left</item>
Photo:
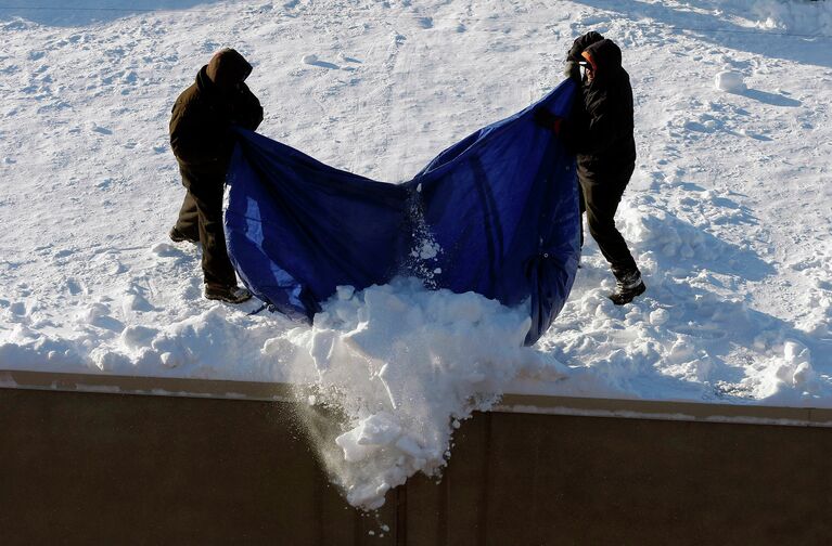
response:
[[[260,102],[243,83],[251,72],[252,65],[240,53],[222,50],[174,104],[170,147],[185,185],[221,183],[234,147],[231,126],[255,130],[263,121]]]

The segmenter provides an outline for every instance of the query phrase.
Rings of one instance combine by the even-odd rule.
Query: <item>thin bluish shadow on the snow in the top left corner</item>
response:
[[[199,5],[208,6],[216,3],[216,0],[137,0],[111,2],[104,5],[95,5],[99,3],[95,0],[80,0],[77,3],[59,0],[26,0],[26,2],[7,3],[13,5],[0,6],[0,28],[14,30],[25,25],[25,22],[56,27],[87,26],[155,11],[189,10]]]

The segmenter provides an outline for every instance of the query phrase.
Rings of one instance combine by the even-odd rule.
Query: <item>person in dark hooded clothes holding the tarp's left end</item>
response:
[[[252,297],[236,285],[222,230],[222,192],[231,153],[232,125],[255,130],[263,107],[244,83],[252,65],[232,49],[216,53],[174,104],[170,147],[187,188],[170,238],[202,243],[205,297],[240,303]]]

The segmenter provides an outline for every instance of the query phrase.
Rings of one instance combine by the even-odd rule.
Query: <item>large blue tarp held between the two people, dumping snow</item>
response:
[[[505,306],[529,300],[534,343],[563,308],[580,252],[575,158],[534,109],[565,116],[575,90],[564,81],[401,184],[240,129],[227,177],[231,261],[255,296],[293,317],[311,318],[336,286],[397,275]]]

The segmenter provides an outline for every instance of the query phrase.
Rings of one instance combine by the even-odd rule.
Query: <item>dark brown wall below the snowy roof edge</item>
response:
[[[0,389],[0,442],[3,545],[832,544],[822,427],[477,414],[373,515],[286,402]]]

